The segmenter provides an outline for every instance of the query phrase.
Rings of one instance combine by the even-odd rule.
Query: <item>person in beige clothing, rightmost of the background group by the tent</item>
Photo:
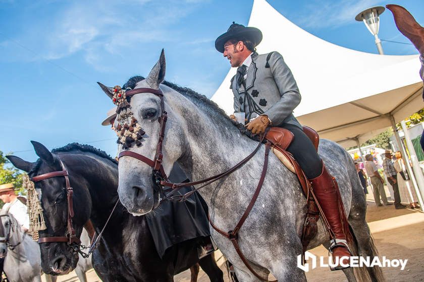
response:
[[[413,188],[409,175],[406,171],[405,163],[403,162],[400,151],[396,152],[395,157],[396,161],[393,163],[393,167],[397,171],[400,198],[409,202],[410,208],[418,208],[418,197],[416,196],[415,189]]]

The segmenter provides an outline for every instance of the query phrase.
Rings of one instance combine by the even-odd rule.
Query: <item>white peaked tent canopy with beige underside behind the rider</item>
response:
[[[355,146],[349,138],[372,137],[392,125],[392,116],[399,121],[422,108],[418,55],[378,55],[332,44],[296,26],[265,0],[254,0],[248,26],[262,31],[259,53],[283,55],[302,95],[294,115],[323,138]],[[235,72],[230,69],[211,98],[228,114]]]

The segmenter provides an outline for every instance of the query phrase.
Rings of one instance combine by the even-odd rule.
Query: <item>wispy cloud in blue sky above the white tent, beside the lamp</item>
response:
[[[366,8],[381,0],[311,1],[300,13],[299,22],[309,28],[336,28],[351,23]]]

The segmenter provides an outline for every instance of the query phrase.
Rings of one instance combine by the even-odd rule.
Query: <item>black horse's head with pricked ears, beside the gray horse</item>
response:
[[[63,170],[61,161],[65,163],[65,157],[59,159],[42,144],[34,141],[31,141],[31,143],[35,153],[40,158],[37,162],[30,163],[16,156],[7,156],[16,168],[26,171],[29,177]],[[66,169],[69,172],[71,187],[76,187],[78,186],[76,184],[83,180],[78,179],[77,174],[72,175],[73,165],[78,164],[69,164]],[[41,194],[41,206],[47,227],[46,230],[39,232],[40,238],[66,236],[68,233],[68,199],[65,177],[58,176],[35,182],[35,188]],[[89,202],[90,197],[87,193],[84,189],[74,189],[73,209],[75,215],[72,218],[72,223],[78,238],[81,236],[82,228],[91,214],[91,202]],[[72,271],[78,262],[76,247],[67,242],[40,243],[43,271],[46,274],[53,275],[66,274]]]

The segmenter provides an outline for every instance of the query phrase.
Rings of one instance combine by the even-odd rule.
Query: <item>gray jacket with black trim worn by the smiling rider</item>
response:
[[[290,123],[302,128],[293,115],[301,99],[299,89],[283,56],[278,52],[253,52],[251,56],[245,87],[238,83],[239,73],[231,80],[234,111],[245,112],[248,120],[254,116],[252,113],[266,114],[273,126]]]

